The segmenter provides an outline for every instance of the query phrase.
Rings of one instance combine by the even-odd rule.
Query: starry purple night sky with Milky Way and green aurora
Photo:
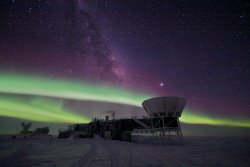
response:
[[[79,83],[87,97],[62,94]],[[187,99],[184,113],[249,122],[250,2],[1,0],[0,86],[5,123],[15,120],[3,114],[7,102],[54,101],[90,118],[104,109],[133,115],[144,97],[171,95]]]

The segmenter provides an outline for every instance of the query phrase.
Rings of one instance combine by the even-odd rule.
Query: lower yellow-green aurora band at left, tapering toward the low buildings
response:
[[[55,107],[51,103],[37,104],[19,99],[0,97],[0,116],[38,122],[87,123],[90,121],[76,113]]]

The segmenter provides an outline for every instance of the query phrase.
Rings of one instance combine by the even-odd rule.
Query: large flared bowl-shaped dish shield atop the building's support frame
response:
[[[143,101],[142,106],[150,117],[180,117],[185,104],[185,98],[176,96],[164,96],[145,100]]]

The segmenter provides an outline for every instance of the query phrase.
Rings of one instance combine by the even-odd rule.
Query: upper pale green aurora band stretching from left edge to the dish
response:
[[[143,100],[151,97],[130,93],[121,88],[99,86],[78,81],[3,74],[0,74],[0,93],[111,102],[139,107]]]

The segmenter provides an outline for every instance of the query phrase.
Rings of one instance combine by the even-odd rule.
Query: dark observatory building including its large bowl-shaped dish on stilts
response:
[[[59,137],[91,137],[94,134],[113,140],[131,141],[132,136],[151,136],[153,142],[165,143],[172,139],[182,140],[179,118],[186,99],[175,96],[155,97],[142,102],[147,117],[137,119],[98,119],[89,124],[75,124]],[[65,135],[66,134],[66,135]]]

